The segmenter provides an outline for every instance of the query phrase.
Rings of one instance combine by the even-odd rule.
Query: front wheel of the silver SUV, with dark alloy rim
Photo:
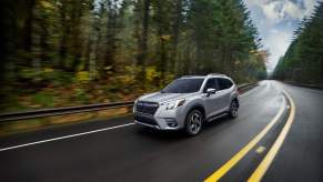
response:
[[[204,115],[201,111],[190,111],[185,121],[185,133],[190,136],[198,135],[202,130],[203,122]]]

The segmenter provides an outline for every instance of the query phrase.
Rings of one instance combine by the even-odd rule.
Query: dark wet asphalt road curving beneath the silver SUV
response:
[[[208,123],[195,138],[148,130],[129,115],[0,139],[0,179],[188,182],[230,166],[220,181],[248,181],[289,123],[282,90],[295,118],[262,181],[323,181],[323,92],[276,81],[260,82],[241,97],[239,118]]]

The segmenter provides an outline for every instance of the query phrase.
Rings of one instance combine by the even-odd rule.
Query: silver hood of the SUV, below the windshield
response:
[[[196,93],[161,93],[154,92],[139,98],[139,101],[163,103],[176,99],[184,99]]]

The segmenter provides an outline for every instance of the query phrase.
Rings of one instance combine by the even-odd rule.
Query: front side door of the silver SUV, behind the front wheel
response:
[[[208,95],[206,94],[208,89],[218,90],[215,78],[208,79],[208,81],[203,88],[203,93],[205,93],[204,103],[205,103],[205,117],[206,117],[206,119],[215,115],[218,113],[216,111],[220,109],[220,105],[218,103],[219,95],[216,93]]]

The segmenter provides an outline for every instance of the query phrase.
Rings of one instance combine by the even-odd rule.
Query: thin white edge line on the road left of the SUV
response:
[[[0,149],[0,152],[12,150],[12,149],[18,149],[18,148],[24,148],[24,146],[29,146],[29,145],[34,145],[34,144],[40,144],[40,143],[46,143],[46,142],[52,142],[52,141],[58,141],[58,140],[63,140],[63,139],[69,139],[69,138],[75,138],[75,136],[91,134],[91,133],[98,133],[98,132],[113,130],[113,129],[123,128],[123,127],[129,127],[129,125],[133,125],[133,124],[135,124],[135,123],[128,123],[128,124],[115,125],[115,127],[111,127],[111,128],[87,131],[87,132],[77,133],[77,134],[64,135],[64,136],[60,136],[60,138],[53,138],[53,139],[41,140],[41,141],[37,141],[37,142],[31,142],[31,143],[19,144],[19,145],[14,145],[14,146]]]

